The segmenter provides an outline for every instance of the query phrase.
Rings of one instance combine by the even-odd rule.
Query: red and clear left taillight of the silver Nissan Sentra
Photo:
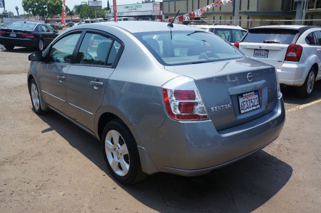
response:
[[[177,77],[163,87],[163,98],[168,115],[176,120],[208,119],[200,92],[192,78]]]

